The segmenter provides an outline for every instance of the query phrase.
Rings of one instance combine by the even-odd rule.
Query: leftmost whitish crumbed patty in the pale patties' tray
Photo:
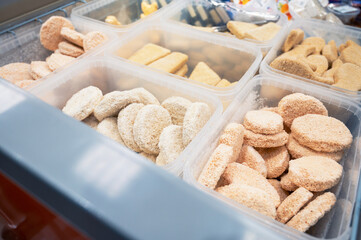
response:
[[[75,93],[65,104],[63,112],[79,121],[93,113],[103,98],[102,91],[94,86],[83,88]]]

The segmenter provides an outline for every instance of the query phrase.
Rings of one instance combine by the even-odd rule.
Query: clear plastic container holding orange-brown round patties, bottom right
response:
[[[328,109],[329,115],[344,122],[354,137],[351,148],[340,161],[344,170],[343,177],[340,183],[331,189],[337,196],[337,203],[330,213],[325,215],[321,221],[309,230],[309,234],[298,232],[271,218],[265,217],[256,211],[223,197],[197,182],[200,172],[216,148],[218,138],[228,123],[242,122],[244,115],[249,110],[259,109],[264,106],[275,107],[282,97],[293,92],[300,92],[318,98]],[[190,157],[191,160],[188,161],[185,166],[184,179],[197,188],[229,203],[235,207],[235,210],[240,214],[246,215],[245,217],[267,223],[267,225],[278,232],[280,238],[349,239],[352,210],[356,201],[360,175],[360,110],[356,103],[335,94],[329,89],[282,76],[256,76],[247,83],[224,112],[222,121],[213,128],[214,132],[210,133],[207,138],[204,138],[205,140],[198,146],[200,150],[194,152],[194,155]]]

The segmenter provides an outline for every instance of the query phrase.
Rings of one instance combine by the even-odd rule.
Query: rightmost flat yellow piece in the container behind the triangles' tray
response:
[[[273,39],[280,30],[281,27],[278,24],[269,22],[258,28],[246,31],[244,37],[258,41],[268,41]]]

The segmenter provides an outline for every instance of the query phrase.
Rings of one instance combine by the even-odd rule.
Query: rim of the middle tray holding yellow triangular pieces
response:
[[[152,69],[149,66],[145,66],[142,64],[132,62],[128,59],[117,56],[115,54],[115,52],[117,51],[118,48],[129,43],[134,38],[137,38],[139,35],[141,35],[145,31],[151,31],[151,30],[161,31],[161,32],[165,32],[165,33],[174,33],[174,34],[179,34],[181,32],[182,35],[184,35],[185,37],[190,38],[190,39],[197,39],[197,40],[201,40],[203,42],[208,42],[208,43],[216,44],[216,45],[219,45],[222,47],[232,48],[237,51],[243,51],[243,52],[249,53],[249,54],[253,55],[255,57],[255,59],[253,60],[252,64],[248,68],[248,70],[238,80],[238,83],[235,84],[235,86],[220,88],[220,87],[210,86],[205,83],[199,83],[198,81],[190,80],[188,78],[176,76],[171,73],[161,72],[156,69]],[[200,86],[201,88],[206,89],[207,91],[209,91],[221,98],[227,98],[230,95],[234,95],[237,92],[239,92],[240,89],[244,86],[244,84],[247,81],[249,81],[256,74],[257,70],[259,69],[260,62],[262,61],[262,57],[263,57],[260,48],[256,47],[255,45],[252,45],[251,43],[248,43],[246,41],[240,41],[237,39],[227,39],[222,36],[215,36],[214,34],[209,35],[208,33],[201,32],[201,31],[189,28],[189,27],[178,26],[178,25],[174,25],[171,23],[167,23],[167,22],[155,22],[155,21],[149,21],[147,23],[139,25],[136,28],[133,28],[133,31],[123,34],[117,42],[113,42],[112,44],[109,44],[107,46],[107,49],[105,50],[105,54],[111,55],[118,59],[122,59],[126,62],[131,63],[132,65],[141,66],[144,69],[152,69],[152,71],[154,71],[154,72],[160,72],[164,75],[168,75],[173,78],[182,79],[183,82],[186,82],[189,85]]]

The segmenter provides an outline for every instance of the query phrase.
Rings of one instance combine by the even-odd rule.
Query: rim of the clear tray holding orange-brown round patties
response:
[[[352,107],[352,109],[350,110],[350,107],[348,109],[348,111],[352,112],[359,120],[359,122],[361,122],[361,107],[352,99],[348,99],[345,98],[344,96],[337,94],[337,92],[333,92],[330,91],[329,89],[325,89],[323,87],[320,86],[314,86],[308,82],[300,82],[297,81],[296,79],[293,78],[289,78],[289,77],[285,77],[285,76],[272,76],[272,75],[267,75],[267,74],[260,74],[255,76],[254,78],[251,79],[251,81],[247,82],[247,84],[244,86],[242,92],[238,93],[237,96],[234,98],[234,100],[232,101],[232,103],[228,106],[228,108],[225,110],[225,112],[222,115],[222,119],[218,122],[217,126],[214,126],[214,132],[209,134],[207,136],[208,139],[217,139],[218,138],[218,133],[221,132],[224,129],[224,126],[226,123],[229,122],[229,117],[233,115],[235,109],[237,109],[238,103],[242,100],[245,100],[245,98],[248,96],[250,90],[254,87],[259,85],[259,83],[263,80],[271,80],[272,82],[276,83],[276,84],[282,84],[284,82],[287,82],[288,86],[297,86],[298,88],[301,89],[305,89],[305,91],[312,89],[312,92],[317,92],[319,95],[323,95],[323,96],[328,96],[329,98],[332,98],[334,100],[338,100],[338,101],[342,101],[344,103],[347,103],[348,105],[350,105],[350,107]],[[355,133],[358,136],[360,136],[361,134],[361,127],[358,128],[357,132]],[[354,141],[356,141],[356,138],[354,138]],[[212,143],[214,144],[214,143]],[[209,146],[209,143],[203,142],[199,147],[202,149],[206,149],[206,147]],[[360,151],[360,147],[356,145],[356,151]],[[194,165],[194,163],[197,161],[197,159],[199,159],[202,156],[202,152],[198,151],[198,153],[196,153],[196,155],[194,155],[193,159],[188,161],[184,167],[184,174],[183,174],[183,179],[188,182],[189,184],[195,186],[196,188],[208,193],[209,195],[213,195],[216,196],[216,198],[220,198],[222,200],[224,200],[225,202],[229,203],[232,207],[235,208],[236,211],[238,211],[240,214],[247,214],[250,217],[256,218],[259,221],[265,222],[268,220],[268,222],[271,222],[271,226],[273,226],[274,228],[276,228],[275,230],[278,232],[281,232],[282,234],[284,234],[285,236],[292,238],[292,239],[305,239],[305,240],[320,240],[322,238],[318,238],[318,237],[314,237],[311,236],[307,233],[301,233],[291,227],[288,227],[284,224],[281,224],[279,222],[277,222],[276,220],[272,220],[270,218],[266,218],[261,214],[258,214],[256,211],[253,211],[251,209],[248,209],[224,196],[222,196],[221,194],[218,194],[217,192],[215,192],[214,190],[211,190],[201,184],[198,183],[198,181],[193,177],[193,171],[192,171],[192,165]],[[358,176],[358,180],[360,180],[360,173]],[[360,184],[360,181],[358,181],[357,184]],[[360,189],[361,186],[358,185],[357,189]],[[358,191],[357,191],[358,193]],[[355,197],[355,202],[353,203],[353,208],[355,208],[356,203],[357,203],[357,199],[360,199],[360,194],[358,194],[359,196]],[[348,228],[346,228],[344,230],[344,232],[342,234],[340,234],[338,237],[336,238],[327,238],[327,239],[346,239],[347,237],[350,236],[351,234],[351,220],[352,220],[353,216],[352,214],[350,215],[348,221]]]

